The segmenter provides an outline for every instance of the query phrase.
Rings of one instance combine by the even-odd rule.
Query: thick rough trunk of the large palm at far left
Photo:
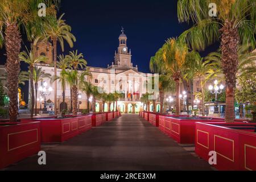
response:
[[[5,64],[7,72],[7,89],[9,101],[10,121],[16,122],[18,117],[18,76],[20,72],[19,52],[22,41],[16,23],[9,24],[5,30],[6,55]]]

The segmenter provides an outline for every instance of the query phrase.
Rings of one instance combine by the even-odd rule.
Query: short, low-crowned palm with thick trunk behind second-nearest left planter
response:
[[[88,75],[88,72],[84,71],[79,73],[77,70],[68,69],[65,71],[65,77],[67,78],[67,82],[72,90],[72,114],[74,116],[77,115],[77,94],[78,89],[82,88],[82,85],[85,82],[85,76]]]

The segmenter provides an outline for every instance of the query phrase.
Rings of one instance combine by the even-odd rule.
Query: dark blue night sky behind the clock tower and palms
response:
[[[145,73],[150,72],[150,57],[155,55],[165,40],[179,36],[189,28],[187,23],[178,22],[177,1],[172,0],[62,0],[58,14],[62,13],[65,13],[63,19],[72,27],[72,33],[77,39],[73,48],[65,44],[64,54],[77,49],[83,53],[88,65],[93,67],[106,68],[112,64],[121,27],[125,28],[133,65],[138,65],[139,71]],[[23,44],[29,45],[26,40],[23,40]],[[201,52],[201,55],[217,47],[214,45]],[[1,64],[6,60],[4,53],[1,50]],[[60,53],[59,46],[57,54]],[[22,63],[21,67],[27,70],[26,64]],[[28,84],[22,86],[22,89],[27,102]]]

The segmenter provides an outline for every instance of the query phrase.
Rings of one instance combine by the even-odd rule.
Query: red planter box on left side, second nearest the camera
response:
[[[33,121],[40,121],[42,142],[64,142],[92,127],[90,114],[73,118],[35,118]]]

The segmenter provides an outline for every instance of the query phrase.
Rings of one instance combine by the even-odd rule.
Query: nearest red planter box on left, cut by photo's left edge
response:
[[[0,125],[0,169],[40,151],[40,123],[17,122]]]

